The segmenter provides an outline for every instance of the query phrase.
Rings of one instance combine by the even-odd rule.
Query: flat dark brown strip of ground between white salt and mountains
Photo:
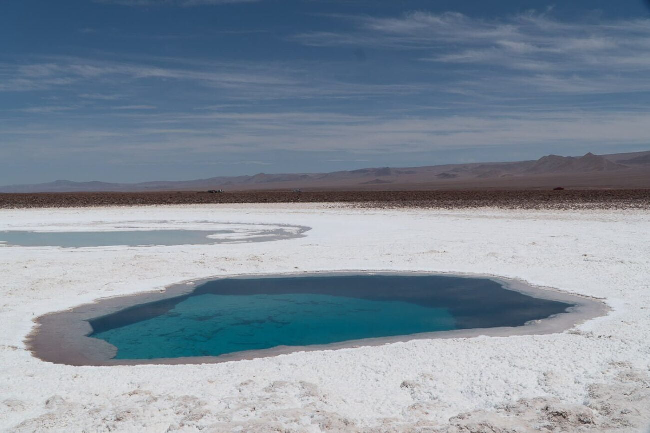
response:
[[[257,191],[61,192],[0,194],[0,208],[97,207],[202,203],[351,203],[359,207],[462,209],[650,209],[650,189],[449,190],[449,191]]]

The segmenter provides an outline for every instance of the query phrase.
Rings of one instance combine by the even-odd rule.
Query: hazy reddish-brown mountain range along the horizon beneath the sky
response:
[[[412,168],[363,168],[332,173],[255,174],[192,181],[72,182],[10,185],[0,192],[147,192],[173,190],[421,190],[650,188],[650,151],[562,157],[537,161],[447,164]]]

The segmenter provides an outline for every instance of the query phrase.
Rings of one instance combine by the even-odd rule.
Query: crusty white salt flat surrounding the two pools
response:
[[[196,246],[0,247],[7,432],[650,431],[650,213],[181,205],[0,210],[0,230],[308,226]],[[210,365],[70,367],[25,350],[32,319],[107,296],[234,274],[489,274],[603,298],[562,334],[395,343]]]

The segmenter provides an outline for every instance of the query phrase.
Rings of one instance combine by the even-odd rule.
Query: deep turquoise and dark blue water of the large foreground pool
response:
[[[219,356],[278,346],[469,328],[521,326],[570,304],[493,280],[348,275],[222,279],[190,295],[90,321],[117,359]]]

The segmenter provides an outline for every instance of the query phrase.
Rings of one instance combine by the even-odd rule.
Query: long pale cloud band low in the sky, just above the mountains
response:
[[[177,127],[160,127],[169,118]],[[263,151],[344,151],[391,154],[478,148],[580,144],[597,149],[612,143],[641,145],[650,137],[650,112],[493,112],[480,116],[346,116],[331,112],[259,112],[242,116],[168,113],[149,122],[138,118],[120,129],[81,118],[73,126],[4,129],[0,137],[15,151],[54,146],[62,154],[146,151],[189,154],[255,154]],[[65,144],[63,146],[63,144]],[[110,144],[110,147],[105,147]],[[26,146],[26,147],[25,147]],[[145,153],[142,153],[145,152]],[[171,153],[170,153],[171,152]]]

